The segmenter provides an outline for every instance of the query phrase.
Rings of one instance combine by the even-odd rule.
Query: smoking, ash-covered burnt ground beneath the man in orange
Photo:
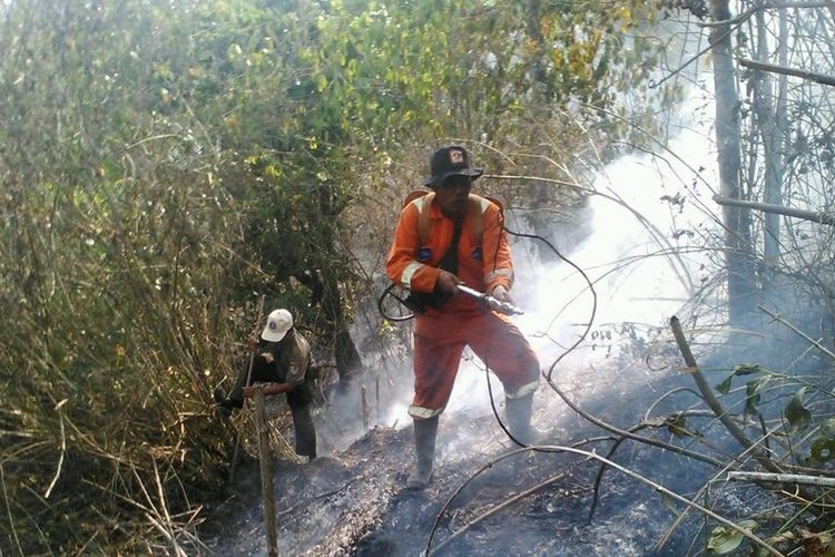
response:
[[[727,349],[730,359],[721,354],[705,358],[706,380],[714,385],[721,382],[729,373],[729,365],[723,363],[726,360],[733,364],[762,362],[770,369],[783,370],[786,361],[794,362],[797,354],[806,350],[782,342],[772,342],[766,350],[756,343],[745,351],[734,344]],[[598,360],[600,363],[595,365],[589,363],[590,354],[578,354],[580,364],[564,362],[554,380],[583,411],[607,423],[628,429],[641,422],[645,416],[658,418],[688,408],[705,409],[694,393],[692,379],[680,371],[680,356],[675,346],[656,350],[651,369],[645,361],[646,349],[633,354],[623,352],[617,359]],[[809,371],[822,369],[829,368],[809,362]],[[658,540],[682,510],[682,505],[612,469],[603,475],[596,496],[592,488],[599,465],[564,452],[522,453],[503,460],[471,481],[442,512],[445,502],[462,485],[488,462],[514,449],[484,403],[483,375],[477,379],[465,389],[472,391],[468,392],[469,399],[481,400],[481,404],[451,408],[441,417],[435,478],[423,492],[402,488],[413,459],[411,427],[401,422],[400,427],[376,427],[367,432],[360,428],[361,432],[355,433],[356,428],[345,418],[344,405],[342,409],[334,405],[330,413],[320,410],[316,427],[326,447],[323,452],[330,456],[308,465],[274,461],[279,555],[421,555],[436,519],[433,555],[678,557],[706,553],[706,538],[715,522],[690,511],[670,540],[658,548]],[[403,378],[394,378],[393,382],[401,380],[409,384]],[[737,381],[735,384],[741,385],[737,394],[724,397],[723,403],[740,412],[745,383]],[[380,397],[390,405],[396,405],[394,398]],[[587,441],[582,448],[609,456],[612,442],[608,433],[571,410],[544,382],[534,400],[534,426],[543,432],[543,443],[571,446]],[[348,404],[356,405],[355,401]],[[776,416],[782,408],[780,403],[773,409]],[[501,408],[500,414],[503,416]],[[682,424],[689,437],[676,434],[666,427],[642,429],[639,433],[686,446],[720,461],[728,461],[740,451],[709,416],[688,418]],[[758,424],[752,427],[752,434],[757,434]],[[698,438],[704,438],[709,446],[699,444]],[[711,482],[707,496],[697,495],[718,470],[646,443],[625,441],[611,460],[684,497],[696,498],[734,521],[749,518],[756,509],[778,507],[767,492],[724,481]],[[448,543],[479,515],[556,476],[558,478],[548,487],[497,511]],[[207,508],[203,515],[207,517],[202,530],[206,547],[200,554],[267,553],[257,462],[249,460],[242,465],[237,478],[229,487],[228,499],[216,508]],[[595,516],[589,520],[592,506]],[[767,538],[767,532],[786,519],[780,512],[790,516],[793,511],[758,514],[756,534]],[[750,555],[747,541],[739,546],[736,555]]]

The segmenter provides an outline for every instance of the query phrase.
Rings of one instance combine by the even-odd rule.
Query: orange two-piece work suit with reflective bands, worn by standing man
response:
[[[386,262],[389,277],[412,292],[433,291],[440,274],[436,265],[452,242],[454,223],[436,203],[431,203],[429,238],[425,245],[419,245],[420,215],[432,197],[420,197],[403,208]],[[458,244],[458,277],[488,294],[499,284],[510,289],[513,264],[501,212],[489,199],[470,195],[470,205],[475,204],[483,219],[482,233],[480,238],[473,237],[475,216],[468,211]],[[522,333],[504,315],[458,293],[442,307],[426,307],[415,317],[414,399],[410,416],[426,419],[443,412],[465,345],[501,380],[505,397],[522,398],[536,391],[539,360]]]

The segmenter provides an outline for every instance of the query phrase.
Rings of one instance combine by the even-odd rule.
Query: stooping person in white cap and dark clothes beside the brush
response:
[[[293,412],[296,453],[313,460],[316,458],[316,429],[311,413],[311,345],[293,326],[293,315],[287,310],[275,310],[267,317],[254,349],[256,355],[249,384],[246,382],[249,370],[242,369],[228,397],[215,389],[215,401],[228,411],[242,408],[244,398],[254,394],[254,383],[267,383],[263,387],[267,397],[286,393],[287,404]]]

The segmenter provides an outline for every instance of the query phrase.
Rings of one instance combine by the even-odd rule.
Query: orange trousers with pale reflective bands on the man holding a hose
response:
[[[505,316],[491,311],[450,314],[429,310],[415,317],[414,399],[410,416],[428,419],[443,412],[466,345],[495,373],[505,397],[521,398],[537,390],[537,354]]]

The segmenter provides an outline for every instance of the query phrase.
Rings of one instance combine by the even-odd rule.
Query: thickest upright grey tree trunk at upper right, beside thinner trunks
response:
[[[730,19],[728,0],[710,0],[714,21]],[[710,28],[714,56],[714,88],[716,90],[716,144],[719,162],[719,190],[725,197],[744,198],[740,188],[739,95],[730,49],[729,23]],[[725,262],[728,273],[728,319],[738,323],[755,307],[750,212],[735,206],[723,206],[725,225]]]

